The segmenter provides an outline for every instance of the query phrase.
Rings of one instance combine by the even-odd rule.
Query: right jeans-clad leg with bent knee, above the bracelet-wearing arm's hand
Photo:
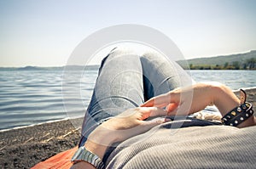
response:
[[[148,50],[144,53],[141,63],[145,100],[167,93],[176,87],[190,86],[195,83],[175,61],[167,59],[156,51]]]

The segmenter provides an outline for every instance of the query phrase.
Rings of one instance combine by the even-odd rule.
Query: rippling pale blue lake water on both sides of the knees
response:
[[[191,70],[196,82],[222,82],[232,89],[256,87],[255,70]],[[83,116],[90,102],[97,70],[0,70],[0,130]],[[68,112],[68,113],[66,113]]]

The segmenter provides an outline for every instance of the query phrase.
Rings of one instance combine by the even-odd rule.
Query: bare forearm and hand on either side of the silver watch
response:
[[[84,146],[102,159],[109,145],[146,132],[164,122],[163,118],[156,118],[151,121],[144,121],[145,119],[165,115],[167,115],[166,110],[157,107],[138,107],[125,110],[120,115],[114,116],[96,127],[90,133]],[[73,165],[72,168],[82,168],[82,166],[84,168],[92,167],[87,162],[79,162]]]

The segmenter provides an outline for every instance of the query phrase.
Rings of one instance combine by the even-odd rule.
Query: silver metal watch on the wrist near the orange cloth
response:
[[[100,157],[91,153],[89,150],[85,149],[84,146],[80,147],[73,155],[71,161],[75,164],[80,161],[86,161],[97,169],[104,168],[104,164]]]

